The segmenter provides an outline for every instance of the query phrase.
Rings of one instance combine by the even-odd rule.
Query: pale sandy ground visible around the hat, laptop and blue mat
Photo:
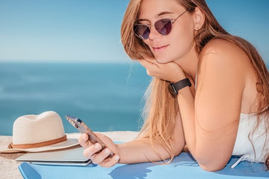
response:
[[[104,133],[114,141],[127,142],[136,138],[138,132],[136,131],[112,131],[112,132],[100,132]],[[80,133],[72,133],[73,138],[78,138]],[[8,146],[12,142],[11,136],[0,136],[0,146]],[[18,165],[21,162],[16,162],[15,159],[23,155],[23,152],[19,153],[0,153],[0,178],[23,178],[18,170]]]

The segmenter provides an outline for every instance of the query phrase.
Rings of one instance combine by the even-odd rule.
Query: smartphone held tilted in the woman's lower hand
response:
[[[74,126],[78,131],[80,131],[81,133],[87,133],[89,136],[89,141],[92,144],[95,143],[99,143],[102,146],[102,149],[106,148],[106,144],[104,142],[102,142],[102,140],[100,140],[100,138],[98,138],[95,133],[83,122],[81,121],[79,118],[73,117],[71,115],[66,115],[66,119],[72,124],[72,126]],[[102,150],[101,149],[101,150]],[[114,155],[114,152],[111,151],[110,156],[112,157]]]

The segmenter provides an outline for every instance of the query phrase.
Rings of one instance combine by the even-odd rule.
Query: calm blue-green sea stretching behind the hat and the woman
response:
[[[0,63],[0,135],[16,118],[56,111],[94,131],[139,130],[142,96],[151,78],[138,63]]]

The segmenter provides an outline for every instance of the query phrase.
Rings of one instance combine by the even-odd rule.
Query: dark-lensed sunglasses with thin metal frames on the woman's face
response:
[[[185,12],[187,12],[187,10],[185,10],[183,13],[181,13],[179,16],[177,16],[174,19],[171,18],[163,18],[160,20],[157,20],[154,23],[154,27],[156,29],[157,32],[159,32],[161,35],[168,35],[171,30],[172,30],[172,24],[181,16],[183,15]],[[146,24],[135,24],[134,25],[134,34],[144,40],[144,39],[148,39],[149,35],[150,35],[150,25],[146,25]]]

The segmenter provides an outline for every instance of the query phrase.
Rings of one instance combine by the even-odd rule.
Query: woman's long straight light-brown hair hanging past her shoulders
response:
[[[142,0],[131,0],[121,25],[121,42],[126,53],[131,59],[139,60],[143,56],[153,57],[149,47],[134,35],[133,25],[139,16],[139,8]],[[257,125],[260,124],[260,116],[266,115],[266,136],[269,126],[269,73],[257,50],[246,40],[227,33],[218,23],[208,5],[204,0],[177,0],[180,5],[189,11],[194,12],[198,7],[205,15],[205,21],[202,28],[194,37],[195,50],[197,54],[201,52],[207,42],[212,39],[225,39],[235,43],[247,56],[249,56],[256,74],[256,88],[258,93]],[[153,78],[146,93],[147,102],[144,107],[144,118],[146,119],[140,131],[144,138],[149,138],[153,149],[155,143],[163,146],[174,158],[171,145],[171,136],[174,130],[176,116],[179,108],[176,99],[172,98],[168,90],[168,82],[159,78]],[[254,129],[255,130],[255,129]],[[158,152],[157,152],[158,153]],[[267,169],[269,169],[269,155],[265,159]]]

